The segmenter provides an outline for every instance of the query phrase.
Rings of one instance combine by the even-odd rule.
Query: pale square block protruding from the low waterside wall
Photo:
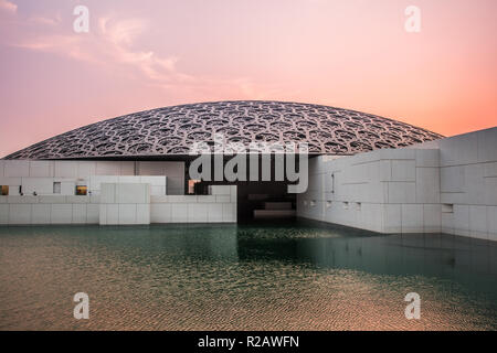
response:
[[[150,184],[102,183],[101,225],[150,224]]]

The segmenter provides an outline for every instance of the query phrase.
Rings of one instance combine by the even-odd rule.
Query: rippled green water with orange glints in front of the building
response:
[[[3,227],[0,329],[496,330],[497,245],[318,223]]]

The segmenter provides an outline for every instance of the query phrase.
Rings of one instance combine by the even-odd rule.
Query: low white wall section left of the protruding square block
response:
[[[0,196],[0,225],[98,224],[99,196]]]

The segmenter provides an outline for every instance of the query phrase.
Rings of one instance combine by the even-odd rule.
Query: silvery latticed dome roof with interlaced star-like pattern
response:
[[[6,159],[146,158],[188,154],[193,142],[307,142],[309,153],[355,154],[442,138],[379,116],[321,105],[216,101],[146,110],[92,124]]]

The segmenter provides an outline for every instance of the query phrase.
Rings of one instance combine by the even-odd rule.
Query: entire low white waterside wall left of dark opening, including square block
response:
[[[107,184],[103,184],[107,185]],[[236,186],[211,195],[150,195],[149,184],[110,183],[92,196],[0,196],[0,225],[234,223]]]

